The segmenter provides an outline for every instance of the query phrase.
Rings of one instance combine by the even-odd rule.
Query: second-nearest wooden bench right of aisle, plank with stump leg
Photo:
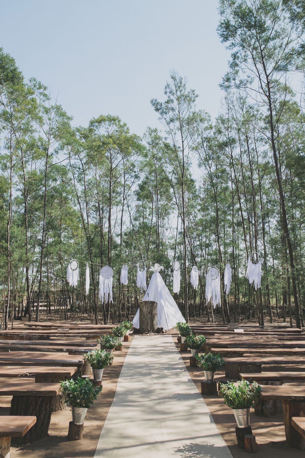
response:
[[[291,425],[293,417],[305,416],[305,385],[262,386],[261,399],[283,402],[286,441],[290,447],[305,450],[305,437]]]

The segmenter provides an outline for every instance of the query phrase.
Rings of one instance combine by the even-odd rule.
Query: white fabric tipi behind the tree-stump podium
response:
[[[149,299],[157,303],[157,326],[168,330],[174,327],[178,322],[185,323],[185,319],[159,273],[160,270],[163,269],[164,267],[159,266],[159,264],[150,267],[150,270],[154,273],[150,278],[150,284],[148,285],[142,301],[148,301]],[[138,309],[133,320],[134,327],[140,326],[139,315]]]

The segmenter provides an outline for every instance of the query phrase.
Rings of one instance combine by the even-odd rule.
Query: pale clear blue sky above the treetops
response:
[[[160,124],[173,68],[217,116],[229,51],[216,32],[217,0],[9,0],[0,4],[0,46],[26,78],[52,89],[75,125],[115,114],[132,132]]]

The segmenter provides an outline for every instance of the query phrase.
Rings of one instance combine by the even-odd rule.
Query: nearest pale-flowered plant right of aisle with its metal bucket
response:
[[[221,383],[219,394],[225,403],[233,409],[235,420],[239,428],[245,428],[250,423],[250,407],[259,397],[262,388],[257,382],[241,380],[237,383]]]

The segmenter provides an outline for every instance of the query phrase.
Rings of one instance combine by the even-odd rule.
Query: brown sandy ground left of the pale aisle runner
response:
[[[102,431],[108,410],[112,404],[117,387],[118,376],[123,367],[130,342],[123,343],[123,351],[115,351],[113,365],[104,370],[102,378],[102,393],[96,400],[95,406],[88,409],[84,422],[84,437],[82,441],[68,441],[69,422],[72,420],[70,407],[51,416],[49,435],[40,441],[25,446],[11,447],[11,458],[92,458]],[[8,380],[8,379],[2,379]],[[0,415],[10,412],[11,398],[0,398]]]

